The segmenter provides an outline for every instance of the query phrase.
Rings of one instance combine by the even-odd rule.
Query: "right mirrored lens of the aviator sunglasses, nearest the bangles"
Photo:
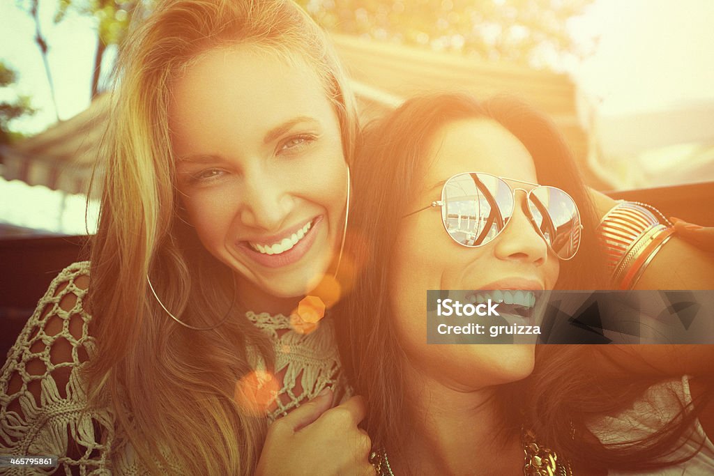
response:
[[[535,226],[559,258],[569,260],[580,248],[580,213],[560,188],[538,186],[528,194]]]

